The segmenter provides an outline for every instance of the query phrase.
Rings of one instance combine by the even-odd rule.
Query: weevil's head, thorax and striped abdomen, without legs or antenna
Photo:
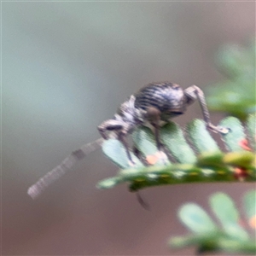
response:
[[[108,131],[131,133],[138,125],[151,121],[150,110],[160,113],[160,120],[168,121],[186,110],[187,96],[178,84],[147,84],[126,102],[121,104],[113,119],[98,126],[102,137],[108,138]]]

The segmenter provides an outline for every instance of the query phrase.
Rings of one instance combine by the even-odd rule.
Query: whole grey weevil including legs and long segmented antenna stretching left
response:
[[[119,139],[123,143],[132,166],[133,160],[127,143],[127,135],[140,125],[152,125],[157,148],[161,151],[160,126],[185,113],[186,108],[195,100],[200,103],[203,119],[208,129],[221,134],[229,132],[228,128],[212,125],[204,93],[198,86],[191,85],[183,90],[178,84],[170,82],[147,84],[120,105],[113,119],[108,119],[98,126],[101,138],[73,151],[59,166],[33,184],[27,191],[28,195],[32,198],[38,197],[50,183],[70,170],[78,160],[83,160],[87,154],[101,148],[104,140],[109,138]]]

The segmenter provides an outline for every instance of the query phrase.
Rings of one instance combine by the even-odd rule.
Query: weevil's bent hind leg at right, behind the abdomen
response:
[[[209,129],[211,129],[212,131],[221,133],[221,134],[226,134],[230,131],[229,128],[212,125],[212,122],[210,119],[210,113],[207,108],[207,102],[206,102],[205,95],[204,95],[203,91],[198,86],[192,85],[189,88],[187,88],[186,90],[184,90],[184,93],[185,93],[185,95],[189,96],[189,98],[191,100],[195,100],[197,98],[197,100],[200,104],[200,107],[201,107],[203,119],[207,123],[207,127]]]

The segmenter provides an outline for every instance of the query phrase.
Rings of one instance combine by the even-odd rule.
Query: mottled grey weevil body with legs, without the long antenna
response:
[[[154,127],[155,140],[160,150],[161,123],[183,114],[196,99],[200,102],[207,127],[215,132],[228,132],[227,129],[212,125],[205,96],[199,87],[192,85],[183,90],[178,84],[170,82],[147,84],[119,107],[113,119],[108,119],[99,125],[98,130],[105,139],[113,136],[118,138],[124,144],[132,164],[126,141],[127,134],[137,126],[149,123]]]

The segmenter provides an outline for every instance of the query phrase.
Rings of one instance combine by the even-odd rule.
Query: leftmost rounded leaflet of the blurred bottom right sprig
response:
[[[217,231],[216,225],[201,207],[189,203],[181,207],[178,216],[189,230],[195,233],[214,233]]]

